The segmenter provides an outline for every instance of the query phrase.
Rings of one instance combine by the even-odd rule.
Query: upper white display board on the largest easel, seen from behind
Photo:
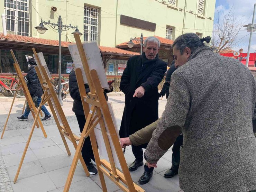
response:
[[[109,89],[106,72],[104,69],[104,65],[102,62],[100,49],[97,42],[83,42],[83,49],[85,52],[85,56],[88,62],[88,66],[90,71],[95,69],[98,73],[98,77],[100,80],[101,87],[104,89]],[[88,80],[86,79],[86,75],[83,69],[83,64],[78,52],[78,48],[76,44],[68,45],[68,49],[70,51],[73,63],[76,68],[81,68],[83,74],[83,80],[85,84],[88,84]]]

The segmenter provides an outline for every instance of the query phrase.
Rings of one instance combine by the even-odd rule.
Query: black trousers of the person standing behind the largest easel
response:
[[[82,132],[84,129],[85,122],[86,122],[85,116],[77,115],[77,114],[75,114],[75,116],[76,116],[76,119],[77,119],[77,122],[79,125],[80,132]],[[91,159],[93,161],[95,161],[95,158],[93,155],[93,150],[92,150],[92,145],[91,145],[91,140],[90,140],[89,136],[84,140],[84,144],[83,144],[81,153],[82,153],[82,157],[83,157],[86,165],[90,164]]]

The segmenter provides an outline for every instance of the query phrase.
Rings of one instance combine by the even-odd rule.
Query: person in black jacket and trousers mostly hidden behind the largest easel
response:
[[[86,93],[89,93],[90,92],[89,85],[84,84],[84,86],[85,86]],[[107,93],[113,91],[112,85],[109,85],[109,87],[110,87],[109,91],[106,89],[104,90],[104,95],[105,95],[105,98],[107,101],[108,101]],[[72,71],[69,75],[69,92],[70,92],[70,96],[72,97],[72,99],[74,99],[72,110],[75,113],[80,132],[82,132],[86,120],[85,120],[85,116],[84,116],[84,110],[83,110],[80,92],[79,92],[79,88],[78,88],[78,84],[77,84],[77,80],[76,80],[75,71]],[[89,136],[84,140],[84,144],[83,144],[81,153],[82,153],[82,157],[83,157],[84,162],[88,168],[89,173],[91,175],[98,173],[98,170],[92,165],[92,163],[94,165],[96,165],[96,164],[95,164],[95,159],[94,159],[92,146],[91,146],[91,140],[90,140]],[[91,159],[93,161],[91,161]]]

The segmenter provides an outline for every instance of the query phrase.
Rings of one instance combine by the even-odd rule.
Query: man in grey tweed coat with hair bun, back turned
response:
[[[256,85],[239,61],[213,53],[196,34],[173,44],[175,65],[162,120],[144,153],[149,167],[183,132],[180,188],[185,192],[256,190],[253,117]]]

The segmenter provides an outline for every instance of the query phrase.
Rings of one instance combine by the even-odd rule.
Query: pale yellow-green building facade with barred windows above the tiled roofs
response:
[[[58,32],[39,34],[40,19],[78,26],[82,40],[115,47],[130,37],[159,36],[175,40],[183,33],[211,36],[216,0],[0,0],[11,34],[58,40]],[[65,30],[63,28],[63,30]],[[3,31],[2,21],[0,31]],[[62,32],[62,41],[74,42],[74,29]]]

